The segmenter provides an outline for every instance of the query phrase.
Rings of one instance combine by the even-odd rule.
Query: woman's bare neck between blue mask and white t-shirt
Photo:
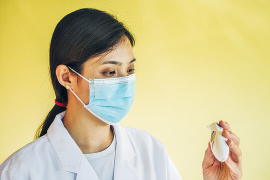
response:
[[[64,127],[82,153],[99,152],[113,140],[112,126],[94,116],[82,104],[68,103],[62,119]]]

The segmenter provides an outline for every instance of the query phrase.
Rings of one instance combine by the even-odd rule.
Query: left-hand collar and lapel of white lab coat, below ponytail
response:
[[[61,119],[65,112],[66,110],[57,114],[47,130],[48,138],[59,157],[62,169],[77,173],[76,180],[99,180],[94,169],[63,126]]]

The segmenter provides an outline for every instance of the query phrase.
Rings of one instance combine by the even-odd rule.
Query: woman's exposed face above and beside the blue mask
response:
[[[89,78],[113,78],[127,76],[134,73],[134,61],[132,46],[126,38],[124,43],[102,57],[89,59],[84,63],[81,75]],[[72,89],[85,103],[89,103],[89,82],[80,78],[78,83],[72,83]],[[109,91],[109,89],[108,89]]]

